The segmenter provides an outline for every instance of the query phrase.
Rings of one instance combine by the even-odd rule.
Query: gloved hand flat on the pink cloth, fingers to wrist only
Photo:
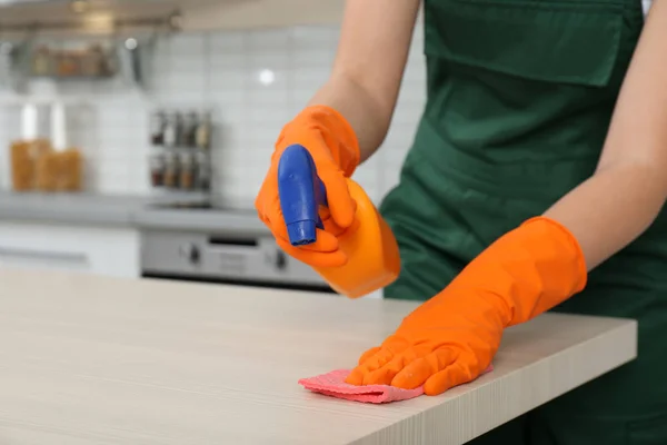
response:
[[[434,303],[431,303],[434,301]],[[484,293],[447,288],[410,314],[396,334],[361,356],[347,382],[437,395],[474,380],[491,363],[502,316]]]

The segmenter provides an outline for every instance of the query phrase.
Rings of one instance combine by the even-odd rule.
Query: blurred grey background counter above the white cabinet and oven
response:
[[[79,224],[186,231],[263,235],[253,209],[169,209],[163,197],[96,194],[0,192],[0,221]],[[178,199],[177,199],[178,200]]]

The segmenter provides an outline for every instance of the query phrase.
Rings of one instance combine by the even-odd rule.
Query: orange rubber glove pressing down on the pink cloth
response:
[[[532,218],[500,237],[440,294],[364,354],[352,385],[385,384],[440,394],[477,378],[502,329],[527,322],[586,286],[577,240],[560,224]]]

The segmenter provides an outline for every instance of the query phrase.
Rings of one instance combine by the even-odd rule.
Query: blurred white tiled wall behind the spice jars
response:
[[[280,128],[327,79],[337,40],[336,27],[178,34],[158,42],[147,91],[121,80],[58,86],[61,97],[80,100],[68,106],[68,127],[71,142],[84,150],[88,187],[150,194],[150,111],[211,107],[216,191],[233,205],[252,206]],[[418,29],[391,130],[355,177],[375,200],[398,180],[425,105],[421,48]],[[16,96],[0,91],[0,141],[7,146],[19,129]],[[0,150],[0,186],[8,188],[7,150]]]

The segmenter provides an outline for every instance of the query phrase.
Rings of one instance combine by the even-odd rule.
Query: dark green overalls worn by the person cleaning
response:
[[[381,205],[424,300],[590,177],[644,26],[640,0],[425,0],[428,101]],[[614,224],[614,221],[609,221]],[[667,212],[557,312],[639,320],[639,358],[474,444],[667,445]]]

